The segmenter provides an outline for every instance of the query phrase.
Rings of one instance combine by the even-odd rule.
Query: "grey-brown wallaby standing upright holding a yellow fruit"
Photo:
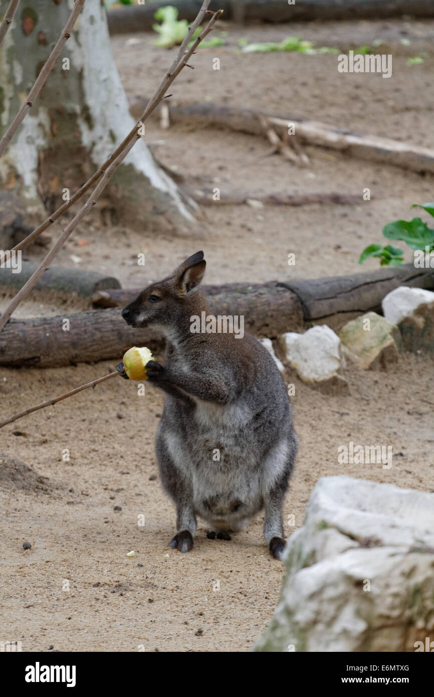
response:
[[[282,507],[298,443],[292,408],[257,339],[192,332],[194,316],[208,315],[198,289],[205,266],[196,252],[122,311],[131,327],[152,324],[166,337],[164,366],[151,360],[146,374],[165,393],[156,451],[162,486],[176,503],[170,546],[192,549],[196,516],[210,526],[207,537],[231,539],[265,508],[265,542],[280,559]]]

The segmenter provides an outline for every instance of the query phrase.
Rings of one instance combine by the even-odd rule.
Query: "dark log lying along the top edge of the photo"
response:
[[[201,0],[171,0],[179,11],[180,20],[191,22],[201,6]],[[130,31],[150,31],[155,24],[155,11],[167,5],[167,0],[130,5],[109,10],[107,19],[111,34]],[[304,22],[311,20],[375,20],[385,17],[412,15],[434,17],[432,0],[212,0],[211,10],[222,8],[224,19],[235,22]]]

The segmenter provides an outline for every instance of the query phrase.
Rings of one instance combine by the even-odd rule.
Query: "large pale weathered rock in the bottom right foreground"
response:
[[[434,496],[323,477],[256,651],[414,651],[434,630]]]

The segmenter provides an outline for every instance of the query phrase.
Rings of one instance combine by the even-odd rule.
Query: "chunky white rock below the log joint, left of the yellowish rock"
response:
[[[291,367],[307,383],[348,385],[339,375],[342,365],[341,340],[327,325],[318,325],[304,334],[286,332],[279,343]]]

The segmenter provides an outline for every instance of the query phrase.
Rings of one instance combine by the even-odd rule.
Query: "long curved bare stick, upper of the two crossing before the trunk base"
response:
[[[194,34],[194,31],[196,31],[197,27],[203,20],[203,17],[208,13],[208,5],[210,4],[210,0],[204,0],[203,5],[201,9],[199,10],[199,14],[196,17],[196,20],[190,25],[189,31],[187,35],[185,36],[185,39],[183,40],[183,43],[180,45],[180,49],[178,51],[178,54],[176,56],[176,59],[173,61],[171,64],[171,67],[169,70],[166,72],[166,75],[164,75],[164,78],[162,79],[162,82],[160,83],[160,86],[158,87],[157,91],[155,92],[155,95],[153,96],[152,99],[149,100],[148,104],[146,105],[146,108],[144,109],[143,114],[139,117],[139,121],[142,121],[143,123],[146,121],[148,116],[152,114],[152,112],[156,109],[156,107],[162,102],[162,100],[166,96],[167,89],[169,86],[171,86],[173,80],[176,78],[176,76],[179,74],[180,70],[183,69],[185,63],[188,61],[189,57],[194,54],[194,51],[196,47],[201,43],[201,40],[205,38],[205,36],[212,31],[212,24],[216,22],[216,20],[222,15],[223,10],[218,10],[216,13],[213,14],[210,22],[208,23],[208,26],[206,26],[206,29],[203,30],[201,33],[201,36],[196,38],[196,41],[194,44],[189,48],[189,50],[185,50],[186,47],[188,46],[192,35]],[[185,57],[184,57],[185,56]],[[182,60],[183,59],[183,60]],[[137,126],[134,125],[134,127],[130,130],[128,135],[123,139],[122,143],[116,148],[116,150],[111,153],[110,157],[102,164],[99,169],[95,171],[95,173],[91,176],[91,178],[86,181],[86,183],[77,191],[75,194],[70,198],[69,201],[65,201],[65,203],[60,206],[52,215],[47,217],[47,220],[42,222],[35,230],[33,230],[32,233],[30,233],[29,236],[27,236],[24,240],[22,240],[20,243],[15,245],[13,247],[13,251],[17,250],[24,250],[26,247],[29,247],[29,245],[33,242],[33,240],[36,240],[36,238],[42,233],[45,232],[45,230],[52,225],[56,220],[65,213],[65,210],[68,210],[70,206],[75,204],[76,201],[81,199],[81,197],[86,193],[86,191],[95,183],[95,181],[98,181],[100,176],[104,174],[104,171],[107,169],[107,167],[110,166],[114,160],[116,160],[117,156],[123,151],[123,148],[127,146],[127,144],[130,142],[130,140],[134,137],[134,134],[137,131]]]

